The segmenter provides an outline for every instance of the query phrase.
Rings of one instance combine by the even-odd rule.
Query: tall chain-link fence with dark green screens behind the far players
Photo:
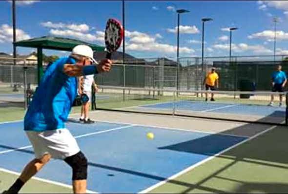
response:
[[[219,74],[223,91],[269,91],[270,76],[276,64],[288,72],[287,56],[241,56],[214,58],[146,58],[125,60],[108,74],[97,75],[99,85],[153,89],[203,90],[210,68]],[[177,78],[178,77],[178,78]]]

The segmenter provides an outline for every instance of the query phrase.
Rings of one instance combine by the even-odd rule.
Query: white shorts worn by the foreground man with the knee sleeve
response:
[[[65,159],[80,152],[76,139],[68,129],[45,132],[26,131],[33,146],[36,158],[45,154],[55,159]]]

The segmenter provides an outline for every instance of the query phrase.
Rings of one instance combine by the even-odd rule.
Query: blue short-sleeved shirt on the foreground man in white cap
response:
[[[73,58],[59,58],[45,72],[24,118],[25,131],[48,131],[64,128],[77,95],[77,78],[63,73],[64,64]]]

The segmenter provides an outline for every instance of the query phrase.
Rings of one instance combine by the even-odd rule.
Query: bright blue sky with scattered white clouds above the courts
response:
[[[227,27],[233,32],[233,55],[273,55],[274,23],[277,24],[277,54],[288,55],[288,1],[131,1],[125,2],[126,52],[138,58],[176,57],[177,9],[181,15],[180,57],[201,56],[201,19],[206,23],[205,56],[228,56]],[[12,3],[0,1],[0,52],[12,53]],[[82,39],[103,45],[105,22],[122,20],[122,1],[17,2],[17,39],[47,35]],[[29,48],[18,48],[28,54]],[[66,55],[64,52],[44,51]]]

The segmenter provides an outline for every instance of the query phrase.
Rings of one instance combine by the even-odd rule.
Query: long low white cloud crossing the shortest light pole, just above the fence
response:
[[[221,50],[226,50],[226,51],[228,51],[230,49],[229,44],[215,44],[212,47],[215,49],[221,49]],[[246,51],[252,51],[255,54],[271,54],[271,53],[273,53],[272,50],[267,49],[263,45],[248,45],[246,43],[240,43],[238,45],[232,44],[231,49],[233,50],[233,52],[237,52],[237,53],[242,53],[242,52],[246,52]]]

